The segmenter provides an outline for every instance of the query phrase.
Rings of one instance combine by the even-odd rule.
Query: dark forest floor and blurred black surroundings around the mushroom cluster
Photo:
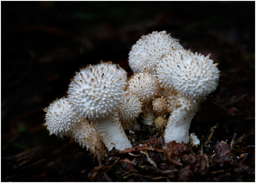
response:
[[[255,2],[1,2],[2,182],[255,182]],[[142,35],[166,30],[218,63],[219,86],[190,133],[198,147],[164,143],[163,130],[127,133],[132,148],[98,161],[49,136],[43,109],[75,71],[112,61],[129,76]],[[134,140],[134,141],[133,141]]]

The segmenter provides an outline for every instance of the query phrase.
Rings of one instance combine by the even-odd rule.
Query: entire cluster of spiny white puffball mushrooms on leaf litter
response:
[[[165,143],[198,145],[190,123],[220,75],[209,57],[185,50],[166,31],[143,35],[129,52],[131,78],[112,62],[80,69],[68,96],[45,108],[44,125],[50,135],[70,137],[102,159],[113,147],[131,148],[124,129],[133,132],[145,124],[165,128]]]

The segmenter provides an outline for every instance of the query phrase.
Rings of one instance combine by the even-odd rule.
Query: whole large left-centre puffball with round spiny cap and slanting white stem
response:
[[[116,110],[127,86],[127,72],[112,62],[88,65],[71,79],[68,101],[79,115],[91,119],[109,150],[132,147]]]

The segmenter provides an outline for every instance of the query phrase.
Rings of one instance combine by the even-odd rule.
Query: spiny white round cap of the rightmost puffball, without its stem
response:
[[[191,53],[185,49],[172,49],[163,55],[157,68],[157,76],[165,88],[173,87],[188,98],[203,99],[213,92],[220,76],[217,64],[210,54]]]

